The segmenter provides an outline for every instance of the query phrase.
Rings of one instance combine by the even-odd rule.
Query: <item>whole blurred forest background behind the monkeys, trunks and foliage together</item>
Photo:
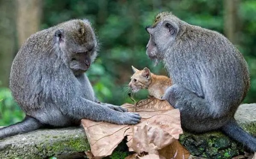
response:
[[[90,20],[101,47],[86,74],[101,101],[121,105],[131,102],[126,91],[131,65],[166,75],[163,64],[154,66],[145,54],[145,26],[162,11],[229,38],[250,68],[251,87],[244,103],[256,102],[256,0],[0,0],[0,125],[24,117],[8,88],[9,73],[32,33],[70,19]],[[136,95],[146,97],[145,90]]]

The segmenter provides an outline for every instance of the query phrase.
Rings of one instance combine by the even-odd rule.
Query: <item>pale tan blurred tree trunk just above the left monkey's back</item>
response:
[[[17,35],[21,46],[29,36],[39,30],[42,0],[17,0]]]

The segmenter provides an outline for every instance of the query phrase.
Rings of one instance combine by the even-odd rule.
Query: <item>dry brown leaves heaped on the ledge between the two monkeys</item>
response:
[[[177,144],[179,134],[183,133],[179,110],[174,109],[167,101],[153,97],[139,101],[137,107],[134,107],[133,104],[123,104],[122,106],[128,111],[136,110],[137,113],[140,113],[141,122],[137,125],[116,125],[82,119],[81,123],[84,126],[93,156],[111,155],[122,139],[127,136],[129,150],[140,154],[135,154],[134,158],[162,159],[167,156],[166,159],[171,159],[175,155],[176,159],[179,159],[178,155],[185,156],[185,159],[188,158],[188,151],[182,145]],[[177,142],[176,146],[170,147],[170,144],[175,141]],[[174,151],[169,150],[168,147]],[[141,155],[143,152],[148,154],[143,156]],[[156,156],[158,157],[156,158]]]

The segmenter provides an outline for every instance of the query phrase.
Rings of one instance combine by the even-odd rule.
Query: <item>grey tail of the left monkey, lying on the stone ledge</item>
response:
[[[16,134],[27,133],[44,127],[37,119],[26,116],[23,121],[0,129],[0,139]]]

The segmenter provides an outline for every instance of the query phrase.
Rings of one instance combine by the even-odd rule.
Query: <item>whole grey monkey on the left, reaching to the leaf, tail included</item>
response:
[[[26,117],[0,129],[0,139],[41,127],[78,125],[83,118],[137,124],[138,113],[100,103],[95,97],[84,72],[96,51],[88,20],[70,20],[31,35],[17,53],[10,74],[12,95]]]

